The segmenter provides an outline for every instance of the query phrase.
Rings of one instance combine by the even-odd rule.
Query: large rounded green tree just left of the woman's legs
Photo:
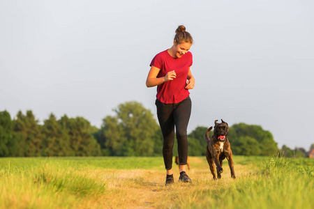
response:
[[[98,133],[103,153],[120,156],[154,155],[154,139],[158,125],[149,109],[139,102],[126,102],[114,109],[116,116],[107,116]]]

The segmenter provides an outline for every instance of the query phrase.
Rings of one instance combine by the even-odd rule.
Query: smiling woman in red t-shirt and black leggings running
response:
[[[180,164],[179,180],[190,183],[186,174],[188,157],[188,121],[190,119],[191,100],[188,89],[193,89],[195,79],[190,72],[193,63],[188,52],[193,38],[181,25],[176,30],[170,49],[157,54],[151,61],[151,69],[146,86],[157,86],[156,107],[161,132],[163,133],[163,160],[167,177],[165,185],[174,183],[172,171],[172,151],[174,145],[174,127],[178,141]]]

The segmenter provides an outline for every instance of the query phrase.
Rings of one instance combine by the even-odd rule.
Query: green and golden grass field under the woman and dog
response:
[[[193,183],[165,187],[162,157],[0,158],[0,208],[314,208],[314,160],[234,156],[214,181],[190,157]]]

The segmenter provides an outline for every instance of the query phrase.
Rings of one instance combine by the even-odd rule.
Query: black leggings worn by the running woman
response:
[[[163,160],[165,169],[172,169],[172,152],[174,145],[174,126],[178,141],[179,164],[187,164],[188,158],[188,121],[192,102],[188,96],[177,104],[164,104],[156,100],[157,116],[163,133]]]

